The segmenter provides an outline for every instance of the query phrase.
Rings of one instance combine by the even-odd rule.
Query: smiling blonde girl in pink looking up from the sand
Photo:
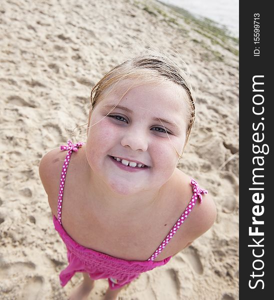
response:
[[[42,157],[40,178],[67,247],[60,284],[83,273],[70,299],[87,299],[99,278],[108,279],[104,299],[116,299],[213,224],[211,197],[176,167],[194,112],[180,69],[165,56],[140,54],[93,87],[86,142]]]

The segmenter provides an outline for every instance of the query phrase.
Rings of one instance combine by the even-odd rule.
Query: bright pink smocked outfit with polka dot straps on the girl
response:
[[[64,230],[61,223],[62,196],[68,162],[72,151],[77,151],[78,148],[83,145],[82,142],[72,144],[70,140],[67,142],[67,144],[68,146],[60,146],[61,150],[68,150],[68,152],[64,159],[64,164],[61,171],[57,210],[58,218],[53,215],[54,227],[58,231],[59,235],[66,245],[67,259],[69,262],[67,267],[60,272],[60,284],[64,286],[75,272],[86,272],[89,274],[91,279],[108,278],[109,288],[115,289],[131,282],[142,272],[152,270],[156,266],[166,264],[170,260],[171,256],[168,256],[160,261],[154,261],[154,259],[165,247],[165,244],[170,241],[177,229],[183,223],[184,219],[193,208],[197,198],[199,198],[199,201],[201,202],[201,194],[207,193],[207,191],[204,189],[200,189],[197,182],[191,179],[190,184],[192,185],[193,195],[187,207],[184,209],[183,213],[178,218],[178,220],[173,225],[158,248],[145,261],[125,260],[92,250],[90,248],[86,248],[73,240]]]

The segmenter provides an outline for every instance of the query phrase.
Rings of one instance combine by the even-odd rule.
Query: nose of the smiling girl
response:
[[[121,139],[121,145],[128,146],[134,151],[146,151],[148,147],[147,136],[138,130],[128,130]]]

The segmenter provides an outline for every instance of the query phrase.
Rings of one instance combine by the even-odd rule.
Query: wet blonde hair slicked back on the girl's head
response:
[[[151,51],[142,52],[138,56],[125,60],[124,62],[113,67],[93,86],[90,94],[90,111],[94,109],[100,99],[109,94],[113,89],[117,89],[121,85],[121,83],[127,79],[134,80],[130,80],[132,85],[126,90],[126,92],[130,88],[144,83],[175,83],[175,85],[180,86],[183,89],[184,92],[182,94],[182,101],[184,101],[184,103],[186,102],[186,105],[188,107],[188,124],[186,129],[186,138],[183,146],[184,150],[195,119],[195,102],[192,97],[191,86],[186,81],[186,77],[187,76],[185,75],[183,70],[180,69],[166,55],[159,53],[154,54],[151,53]],[[182,153],[178,154],[177,150],[176,153],[178,155],[178,158],[180,159]]]

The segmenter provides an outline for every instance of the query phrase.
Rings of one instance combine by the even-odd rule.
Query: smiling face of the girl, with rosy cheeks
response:
[[[123,95],[127,87],[124,82],[96,104],[86,142],[92,172],[124,195],[157,189],[172,175],[178,161],[174,147],[178,153],[183,148],[188,109],[186,93],[173,83],[143,84]]]

